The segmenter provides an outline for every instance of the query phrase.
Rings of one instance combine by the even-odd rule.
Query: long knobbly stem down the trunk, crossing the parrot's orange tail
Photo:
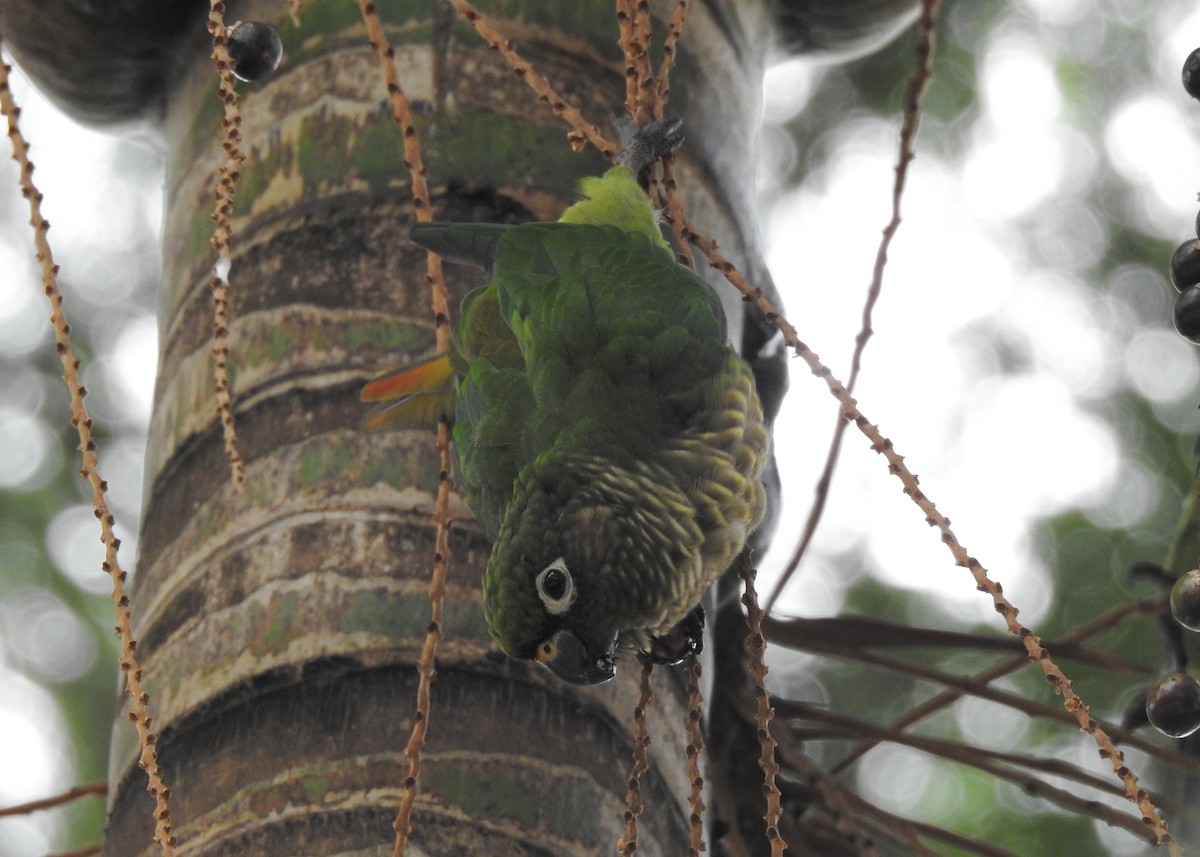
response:
[[[388,41],[383,23],[376,13],[374,4],[370,0],[359,0],[359,8],[367,28],[367,40],[379,59],[379,68],[383,72],[388,88],[388,96],[391,100],[392,118],[401,130],[401,138],[404,145],[404,167],[413,176],[413,211],[419,222],[425,222],[432,217],[432,204],[430,202],[430,188],[425,180],[425,161],[421,156],[421,145],[413,125],[413,108],[400,85],[400,76],[396,72],[396,52]],[[445,352],[450,347],[450,310],[446,296],[445,282],[442,277],[442,260],[433,253],[426,253],[425,281],[430,287],[431,308],[433,311],[434,335],[438,352]],[[433,522],[436,526],[433,547],[433,570],[430,575],[430,624],[425,635],[425,643],[421,647],[421,658],[418,661],[416,684],[416,711],[413,714],[413,731],[404,747],[404,757],[408,760],[408,773],[404,775],[403,795],[392,828],[396,832],[396,840],[392,853],[401,857],[408,845],[408,837],[413,832],[413,804],[416,802],[418,785],[421,775],[421,750],[425,747],[425,736],[430,726],[431,688],[433,677],[438,643],[442,641],[442,606],[445,595],[445,577],[450,557],[450,426],[442,421],[438,424],[437,435],[438,453],[438,496],[433,507]]]

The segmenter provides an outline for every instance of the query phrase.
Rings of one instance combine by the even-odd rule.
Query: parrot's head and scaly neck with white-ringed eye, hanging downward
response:
[[[654,647],[659,630],[694,606],[680,607],[672,581],[695,576],[698,534],[623,475],[582,485],[520,479],[484,576],[484,611],[500,648],[572,684],[612,678],[618,646],[655,663],[698,651],[702,619],[686,624],[696,633],[674,657]]]

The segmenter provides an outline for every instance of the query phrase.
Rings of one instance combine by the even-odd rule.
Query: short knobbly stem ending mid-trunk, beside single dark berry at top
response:
[[[229,252],[233,241],[233,197],[238,190],[241,164],[246,160],[241,151],[241,112],[240,100],[234,89],[233,58],[229,55],[229,38],[224,25],[224,2],[212,0],[209,7],[209,32],[212,34],[212,60],[217,70],[217,96],[224,104],[224,118],[221,127],[224,130],[222,148],[226,161],[217,170],[217,184],[212,188],[212,220],[216,229],[212,232],[212,248],[217,253],[209,288],[212,292],[212,379],[217,394],[217,419],[221,420],[221,432],[224,439],[226,459],[229,461],[229,474],[234,487],[240,492],[246,484],[246,465],[238,451],[238,431],[233,419],[233,398],[229,394]]]

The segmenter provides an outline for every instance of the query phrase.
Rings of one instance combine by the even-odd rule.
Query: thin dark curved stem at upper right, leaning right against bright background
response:
[[[924,0],[922,4],[920,22],[918,24],[920,36],[917,42],[917,68],[908,82],[904,120],[900,126],[900,151],[896,157],[895,178],[892,184],[892,220],[883,227],[883,235],[875,252],[875,270],[871,275],[871,286],[866,290],[866,300],[863,304],[863,323],[858,336],[854,337],[854,353],[851,356],[850,378],[846,382],[846,390],[851,394],[853,394],[854,386],[858,384],[863,352],[866,349],[866,343],[874,332],[871,316],[875,312],[876,302],[880,300],[880,294],[883,292],[883,269],[888,263],[888,248],[892,246],[893,236],[900,228],[900,200],[904,197],[905,182],[908,178],[908,164],[916,157],[912,146],[913,140],[917,138],[917,128],[920,126],[920,96],[934,77],[934,14],[937,11],[938,2],[940,0]],[[809,510],[809,516],[804,522],[804,529],[800,531],[799,541],[796,544],[796,550],[792,552],[784,574],[775,581],[775,586],[770,591],[770,597],[767,598],[766,612],[768,616],[772,609],[774,609],[775,601],[779,600],[780,594],[782,594],[787,583],[792,580],[796,570],[800,567],[800,559],[804,557],[805,551],[808,551],[809,544],[816,534],[817,526],[821,523],[821,516],[824,514],[826,503],[829,499],[829,487],[833,484],[833,473],[838,466],[838,455],[841,453],[841,442],[845,436],[846,421],[839,414],[838,421],[834,425],[833,437],[829,442],[829,451],[826,454],[824,467],[814,490],[812,508]]]

